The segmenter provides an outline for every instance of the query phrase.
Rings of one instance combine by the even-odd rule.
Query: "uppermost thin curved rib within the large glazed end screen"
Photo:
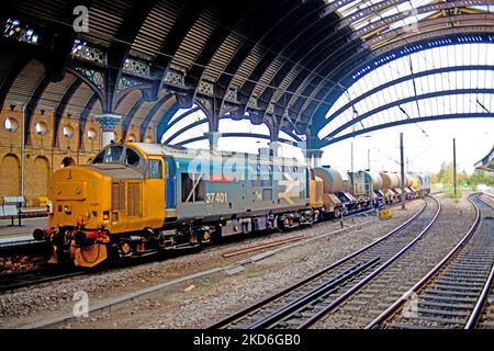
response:
[[[385,82],[384,84],[375,87],[375,88],[367,91],[366,93],[357,97],[356,99],[350,100],[349,102],[347,102],[345,105],[343,105],[341,107],[336,110],[334,113],[332,113],[325,120],[325,122],[327,122],[327,123],[324,124],[324,125],[321,124],[321,128],[324,128],[329,122],[335,120],[339,114],[341,114],[344,111],[348,110],[352,105],[357,104],[358,102],[362,101],[363,99],[366,99],[366,98],[368,98],[370,95],[373,95],[374,93],[377,93],[377,92],[379,92],[381,90],[390,88],[392,86],[398,84],[398,83],[404,82],[404,81],[413,80],[415,78],[427,77],[427,76],[437,75],[437,73],[445,73],[445,72],[452,72],[452,71],[468,71],[468,70],[492,70],[492,71],[494,71],[494,65],[469,65],[469,66],[441,67],[441,68],[436,68],[436,69],[429,69],[429,70],[420,71],[420,72],[408,75],[408,76],[403,76],[403,77],[400,77],[400,78],[394,79],[394,80],[390,80],[390,81]]]

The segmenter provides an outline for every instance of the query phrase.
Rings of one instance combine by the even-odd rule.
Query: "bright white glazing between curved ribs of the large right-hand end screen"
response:
[[[462,45],[450,45],[446,47],[434,47],[424,52],[416,52],[409,57],[402,57],[390,64],[385,64],[358,79],[353,86],[348,88],[348,93],[353,97],[359,93],[367,93],[373,88],[383,87],[397,78],[403,78],[413,73],[419,73],[433,69],[446,68],[446,67],[459,67],[462,65],[479,66],[479,65],[493,65],[494,44],[480,44],[469,43]],[[412,65],[409,65],[412,63]],[[393,73],[385,73],[385,70]],[[415,87],[414,87],[415,81]],[[358,87],[357,89],[355,87]],[[367,89],[361,89],[367,87]],[[372,110],[398,101],[402,99],[426,93],[435,93],[441,91],[451,91],[457,89],[493,89],[494,90],[494,70],[493,69],[474,69],[474,70],[453,70],[447,72],[438,72],[434,75],[427,75],[423,77],[415,77],[413,80],[407,79],[400,83],[393,83],[386,88],[380,89],[369,97],[358,101],[355,104],[358,115],[361,116],[367,113],[372,113]],[[489,111],[494,111],[492,104],[494,99],[492,94],[476,94],[482,95],[482,104],[486,106]],[[427,115],[442,115],[452,113],[469,113],[471,112],[485,112],[476,102],[475,94],[467,95],[439,95],[430,99],[422,99],[418,102],[413,101],[409,103],[402,103],[401,106],[405,109],[406,113],[412,118],[417,118]],[[347,104],[347,98],[340,97],[335,105],[332,107],[330,113],[326,115],[326,118],[334,118],[330,124],[325,125],[318,133],[319,137],[325,137],[336,128],[345,125],[348,121],[351,121],[353,114],[353,107]],[[485,102],[485,103],[484,103]],[[335,109],[335,106],[338,106]],[[333,116],[339,107],[345,106],[339,115]],[[405,107],[406,106],[406,107]],[[418,106],[418,107],[417,107]],[[397,112],[396,112],[397,111]],[[388,112],[380,112],[371,115],[369,124],[382,123],[378,122],[380,118],[383,121],[393,121],[398,117],[403,117],[404,114],[398,107],[393,107]],[[406,116],[405,116],[406,117]],[[391,118],[391,120],[390,120]],[[349,127],[350,129],[352,127]],[[348,128],[347,128],[348,129]],[[341,133],[338,133],[341,135]]]

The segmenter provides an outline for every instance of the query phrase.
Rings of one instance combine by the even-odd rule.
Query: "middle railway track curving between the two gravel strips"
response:
[[[430,228],[440,203],[426,197],[424,207],[400,227],[312,276],[254,304],[210,328],[306,328],[364,286]]]

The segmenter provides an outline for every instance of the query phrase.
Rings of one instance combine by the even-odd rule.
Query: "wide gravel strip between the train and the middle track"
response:
[[[111,316],[83,318],[65,328],[198,328],[233,313],[246,304],[268,296],[283,286],[299,281],[319,268],[368,245],[375,238],[403,223],[423,205],[414,201],[405,212],[393,210],[386,222],[372,219],[364,226],[340,231],[321,240],[281,251],[245,270],[228,275],[217,273],[203,279],[170,286],[155,298],[130,304]],[[368,222],[369,218],[348,219],[347,226]],[[85,291],[89,303],[97,304],[125,293],[160,284],[178,278],[223,267],[261,251],[225,259],[222,253],[232,249],[250,247],[274,238],[317,236],[336,230],[338,222],[322,223],[289,234],[273,233],[243,241],[212,247],[194,254],[186,254],[159,262],[109,270],[88,276],[63,280],[56,283],[19,290],[0,295],[0,327],[15,328],[26,324],[54,318],[72,310],[74,293]]]

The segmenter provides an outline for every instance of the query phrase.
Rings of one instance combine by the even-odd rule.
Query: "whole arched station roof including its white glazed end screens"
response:
[[[79,132],[111,113],[143,141],[153,129],[157,141],[202,147],[221,132],[319,148],[403,123],[493,116],[494,1],[4,7],[0,105],[23,106],[26,126],[40,109],[55,129],[77,116]]]

